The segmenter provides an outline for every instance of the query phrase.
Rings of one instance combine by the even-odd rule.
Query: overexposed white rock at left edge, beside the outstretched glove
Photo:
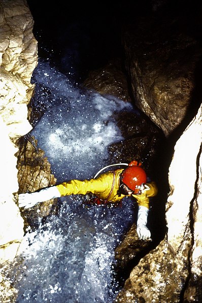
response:
[[[0,157],[0,263],[12,260],[23,238],[24,221],[14,202],[13,193],[18,191],[17,148],[12,144],[8,128],[0,117],[0,138],[3,143]]]

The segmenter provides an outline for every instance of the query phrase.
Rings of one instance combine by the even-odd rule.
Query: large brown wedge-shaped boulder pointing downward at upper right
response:
[[[201,46],[195,33],[174,29],[177,20],[163,16],[159,21],[157,16],[143,18],[139,30],[137,24],[128,25],[123,44],[136,105],[168,137],[199,107],[195,82]]]

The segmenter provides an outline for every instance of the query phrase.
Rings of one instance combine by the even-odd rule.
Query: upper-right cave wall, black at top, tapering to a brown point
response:
[[[202,97],[202,6],[154,0],[147,13],[139,13],[130,17],[122,35],[132,94],[166,137],[178,129],[181,134]]]

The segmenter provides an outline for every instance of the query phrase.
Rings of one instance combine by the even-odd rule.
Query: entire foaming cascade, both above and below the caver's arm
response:
[[[31,133],[57,181],[92,178],[109,164],[108,146],[122,140],[113,114],[131,106],[82,93],[48,64],[39,64],[35,81],[35,107],[47,110]],[[4,270],[18,291],[16,302],[113,302],[114,249],[134,221],[132,201],[125,198],[122,208],[89,208],[82,196],[72,195],[58,203],[58,215],[26,233],[19,257]]]

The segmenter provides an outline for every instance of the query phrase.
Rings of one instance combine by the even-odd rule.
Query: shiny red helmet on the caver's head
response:
[[[136,191],[137,185],[141,185],[147,181],[147,175],[142,167],[140,167],[141,165],[142,163],[133,160],[121,174],[121,181],[129,187],[129,189],[133,190],[134,193],[139,192],[139,189]]]

